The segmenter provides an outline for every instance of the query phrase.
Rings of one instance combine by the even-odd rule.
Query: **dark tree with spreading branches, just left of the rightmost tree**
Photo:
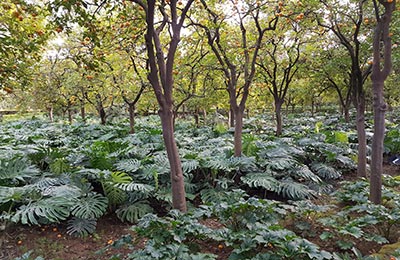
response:
[[[350,59],[349,85],[353,103],[356,107],[356,127],[358,137],[357,174],[367,176],[367,140],[365,133],[365,91],[364,82],[371,73],[366,66],[366,44],[361,40],[368,35],[368,28],[372,21],[364,16],[366,0],[356,3],[328,3],[322,1],[323,7],[317,12],[316,19],[319,26],[330,31],[346,50]],[[363,26],[365,36],[362,35]],[[364,43],[364,44],[363,44]]]

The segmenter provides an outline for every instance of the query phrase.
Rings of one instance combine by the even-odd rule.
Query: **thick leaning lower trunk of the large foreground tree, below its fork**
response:
[[[174,136],[174,114],[172,109],[161,109],[159,115],[161,118],[165,148],[171,167],[172,206],[174,209],[186,212],[185,182],[182,163]]]

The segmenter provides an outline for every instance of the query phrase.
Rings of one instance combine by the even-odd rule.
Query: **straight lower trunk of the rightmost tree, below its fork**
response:
[[[380,204],[382,200],[382,164],[383,140],[385,137],[385,111],[387,105],[383,99],[383,81],[372,81],[374,91],[374,138],[372,140],[370,200]]]

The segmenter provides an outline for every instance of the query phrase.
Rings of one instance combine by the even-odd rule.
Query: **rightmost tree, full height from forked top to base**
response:
[[[373,38],[372,90],[374,107],[374,137],[372,140],[370,200],[375,204],[382,201],[383,139],[385,137],[385,111],[383,98],[386,78],[392,70],[392,41],[390,23],[395,10],[393,0],[374,0],[377,24]],[[380,13],[381,7],[384,8]]]

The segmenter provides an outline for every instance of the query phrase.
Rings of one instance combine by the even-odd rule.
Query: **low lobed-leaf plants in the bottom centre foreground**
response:
[[[285,214],[279,203],[254,198],[200,206],[186,214],[171,211],[164,218],[148,214],[135,226],[134,241],[121,238],[116,244],[133,248],[136,241],[148,239],[129,259],[216,259],[199,253],[199,241],[232,248],[229,259],[331,259],[328,252],[281,227],[278,221]],[[213,229],[203,224],[210,220],[218,223]]]

